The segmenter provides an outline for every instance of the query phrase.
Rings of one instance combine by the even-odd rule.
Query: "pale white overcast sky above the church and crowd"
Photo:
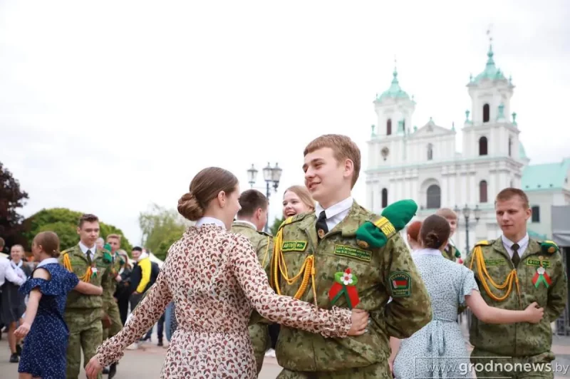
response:
[[[465,85],[494,60],[514,90],[532,163],[570,155],[567,1],[2,1],[0,162],[30,195],[23,213],[98,214],[140,242],[138,214],[174,208],[208,165],[238,175],[279,162],[302,184],[324,133],[361,147],[375,93],[415,95],[413,125],[458,130]],[[460,144],[457,145],[461,149]],[[366,163],[363,169],[366,169]],[[356,185],[365,202],[364,175]],[[279,201],[276,201],[279,200]]]

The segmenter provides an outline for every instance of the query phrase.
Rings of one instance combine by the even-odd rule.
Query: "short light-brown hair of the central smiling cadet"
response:
[[[358,180],[358,175],[361,172],[361,150],[358,148],[356,143],[346,135],[326,134],[321,135],[321,137],[316,137],[314,140],[309,142],[309,145],[305,147],[304,156],[309,154],[309,152],[314,152],[324,147],[330,147],[333,150],[334,158],[338,162],[346,159],[353,162],[354,172],[351,185],[351,188],[353,188],[356,184],[356,180]]]

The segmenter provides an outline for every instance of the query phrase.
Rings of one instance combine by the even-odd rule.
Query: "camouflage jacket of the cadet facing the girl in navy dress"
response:
[[[90,275],[89,283],[94,286],[102,286],[103,294],[105,291],[109,291],[109,271],[111,266],[111,261],[108,259],[103,259],[103,254],[106,250],[96,249],[95,256],[93,256],[92,267],[96,269],[95,275]],[[106,251],[107,254],[110,254]],[[71,249],[67,249],[61,253],[59,256],[59,263],[63,266],[65,257],[68,256],[69,262],[71,263],[71,269],[74,274],[81,279],[86,274],[89,264],[85,254],[81,251],[79,244],[73,246]],[[93,296],[84,295],[78,291],[71,291],[67,297],[66,310],[74,308],[101,308],[103,306],[103,296]]]

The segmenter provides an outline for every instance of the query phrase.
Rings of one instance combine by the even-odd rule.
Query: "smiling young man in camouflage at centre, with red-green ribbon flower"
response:
[[[357,239],[365,224],[376,229],[371,222],[380,225],[380,217],[351,197],[361,167],[356,144],[343,135],[323,135],[309,143],[304,156],[305,185],[318,202],[316,212],[281,225],[271,283],[279,294],[323,308],[365,309],[371,324],[367,333],[350,338],[281,326],[276,357],[284,370],[278,378],[390,378],[389,338],[407,338],[431,320],[427,289],[395,230],[381,234],[382,246]]]

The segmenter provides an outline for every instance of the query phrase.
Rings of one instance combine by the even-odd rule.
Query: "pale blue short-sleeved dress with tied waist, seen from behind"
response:
[[[433,318],[402,340],[394,360],[395,378],[471,378],[457,308],[465,303],[465,295],[479,291],[473,271],[435,249],[417,250],[412,257],[430,294]]]

